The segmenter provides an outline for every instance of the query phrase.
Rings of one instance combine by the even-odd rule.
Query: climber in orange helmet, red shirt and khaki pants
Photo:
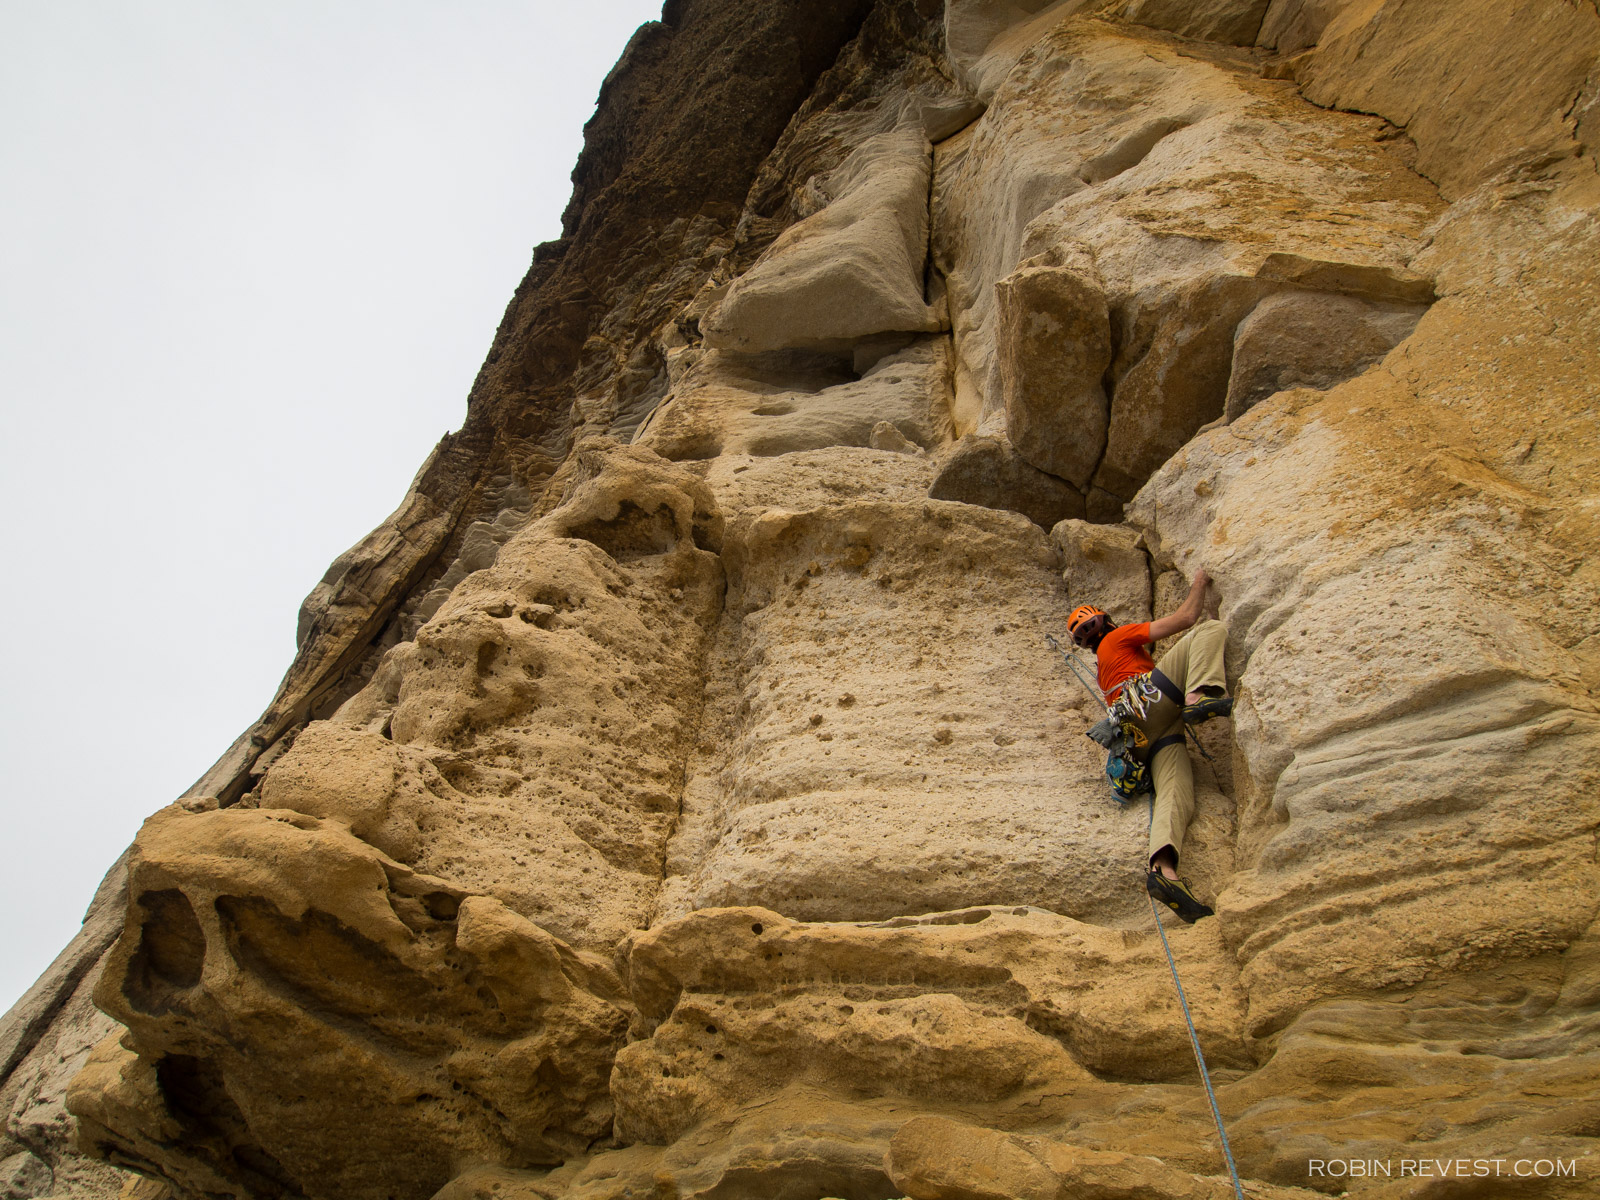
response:
[[[1221,621],[1200,621],[1210,582],[1211,576],[1197,570],[1178,611],[1155,621],[1118,626],[1094,605],[1078,605],[1067,618],[1072,640],[1094,651],[1099,688],[1114,715],[1144,736],[1142,757],[1155,784],[1146,891],[1190,925],[1210,917],[1213,909],[1178,877],[1178,854],[1195,811],[1184,723],[1198,725],[1234,712],[1222,683],[1227,629]],[[1173,634],[1184,637],[1155,662],[1149,648]]]

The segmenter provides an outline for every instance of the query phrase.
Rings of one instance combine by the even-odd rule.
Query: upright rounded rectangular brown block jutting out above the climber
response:
[[[1016,453],[1078,490],[1106,450],[1106,291],[1086,272],[1024,267],[995,285],[1000,389]]]

